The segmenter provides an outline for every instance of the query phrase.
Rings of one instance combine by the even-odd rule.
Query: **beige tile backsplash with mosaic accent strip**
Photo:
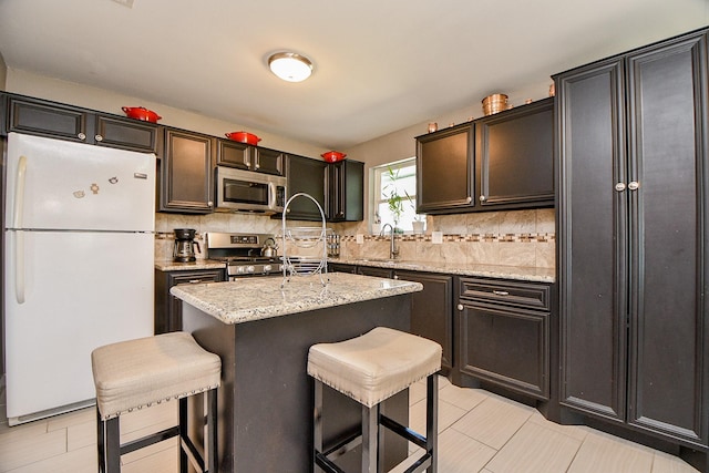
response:
[[[299,223],[289,222],[289,226]],[[301,223],[314,226],[316,223]],[[368,223],[328,224],[342,236],[340,255],[346,258],[386,258],[389,238],[369,235]],[[204,247],[205,232],[243,232],[280,234],[281,220],[261,215],[155,215],[155,257],[172,259],[173,230],[194,228]],[[432,232],[441,232],[443,241],[433,244]],[[363,236],[358,244],[356,236]],[[454,263],[554,268],[555,220],[553,208],[477,214],[429,215],[424,235],[398,235],[400,259],[445,260]],[[198,254],[204,258],[205,254]]]

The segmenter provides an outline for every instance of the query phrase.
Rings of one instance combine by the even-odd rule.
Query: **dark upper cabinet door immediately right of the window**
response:
[[[475,202],[473,124],[417,137],[417,212],[470,212]]]

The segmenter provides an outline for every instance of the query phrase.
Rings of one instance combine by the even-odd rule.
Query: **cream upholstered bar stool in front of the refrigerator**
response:
[[[121,471],[121,455],[179,435],[179,471],[188,461],[203,473],[217,466],[217,388],[222,360],[186,332],[127,340],[91,353],[96,387],[99,472]],[[206,436],[201,454],[187,434],[187,398],[205,392]],[[179,400],[179,424],[121,444],[120,418],[136,409]]]

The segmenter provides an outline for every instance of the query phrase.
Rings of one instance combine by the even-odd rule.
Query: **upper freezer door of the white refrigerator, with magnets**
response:
[[[6,227],[153,232],[155,155],[10,133]]]

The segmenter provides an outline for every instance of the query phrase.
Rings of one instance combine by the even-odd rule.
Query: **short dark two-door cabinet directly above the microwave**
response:
[[[284,153],[276,150],[251,146],[232,140],[217,142],[217,164],[238,167],[245,171],[282,176],[285,172]]]

